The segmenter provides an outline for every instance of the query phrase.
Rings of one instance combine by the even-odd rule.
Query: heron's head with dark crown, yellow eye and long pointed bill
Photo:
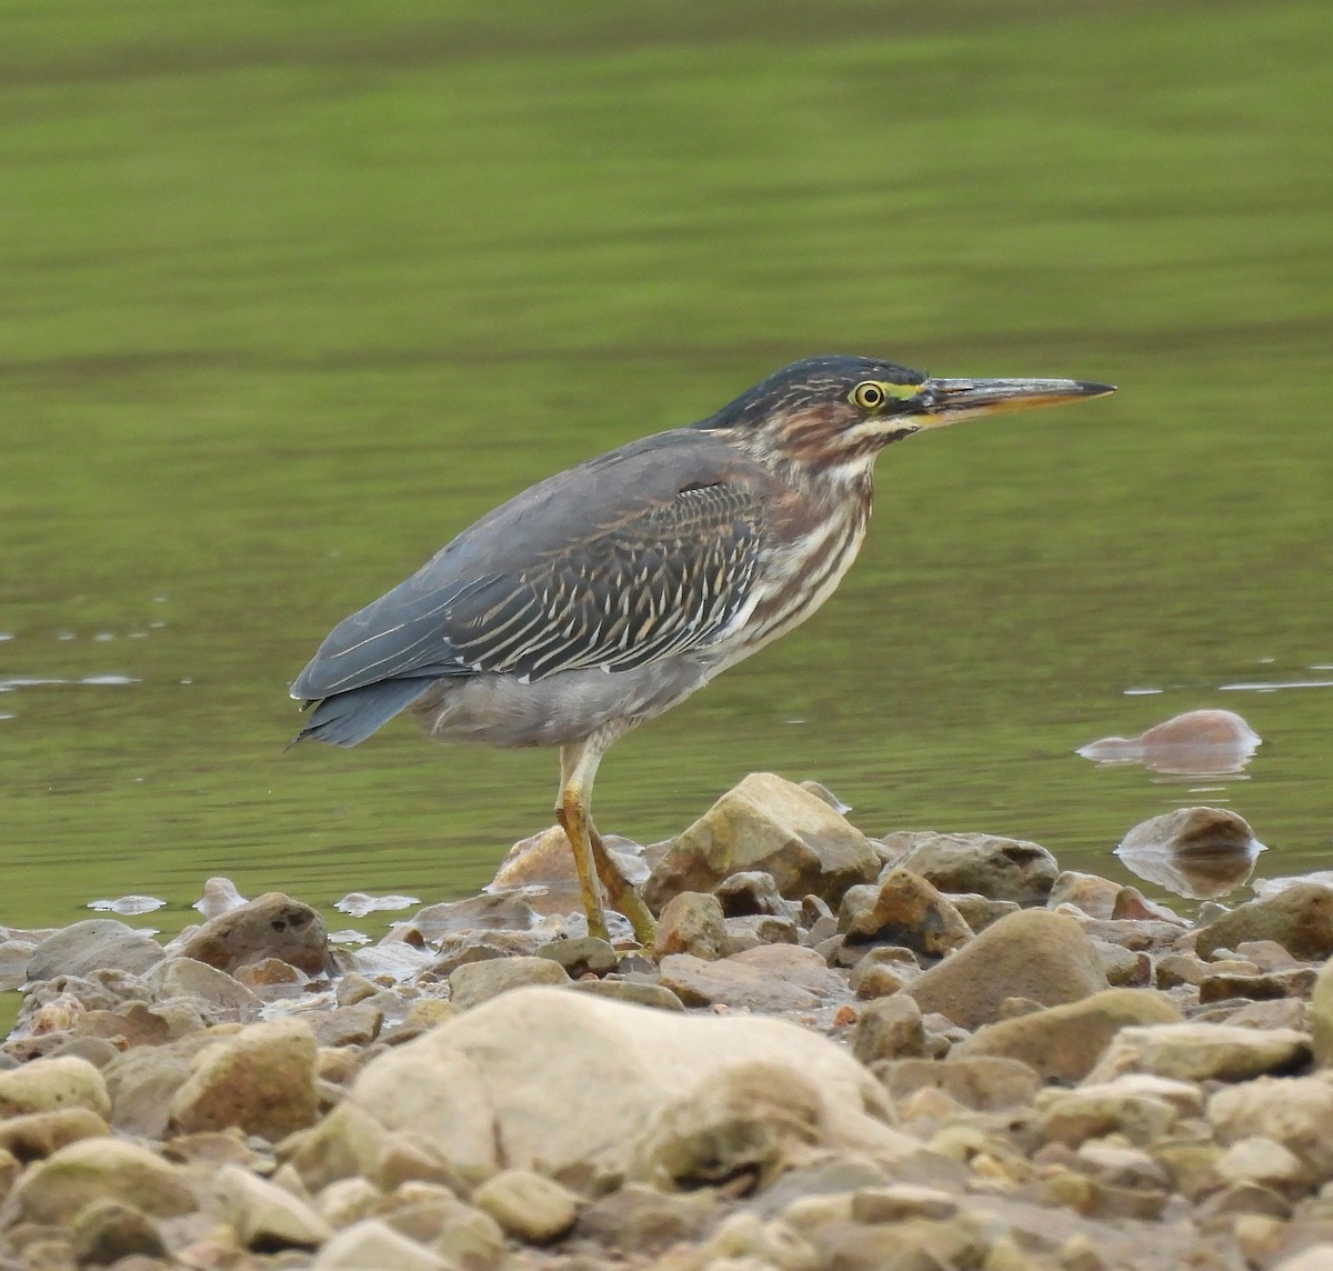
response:
[[[933,379],[873,357],[794,361],[697,428],[724,432],[757,459],[797,473],[853,479],[890,441],[960,419],[1114,392],[1082,380]]]

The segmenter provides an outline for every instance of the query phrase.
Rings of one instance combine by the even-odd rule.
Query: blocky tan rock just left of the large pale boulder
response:
[[[251,1024],[199,1052],[172,1099],[171,1124],[184,1134],[236,1126],[277,1140],[315,1120],[315,1034],[303,1020]]]

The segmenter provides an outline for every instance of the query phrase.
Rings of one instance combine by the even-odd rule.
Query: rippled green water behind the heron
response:
[[[769,768],[1116,876],[1193,802],[1328,864],[1321,0],[0,16],[0,682],[60,682],[0,692],[0,920],[481,883],[555,755],[284,754],[288,682],[500,499],[832,351],[1121,392],[886,452],[840,593],[617,746],[603,828]],[[1204,706],[1244,780],[1072,754]]]

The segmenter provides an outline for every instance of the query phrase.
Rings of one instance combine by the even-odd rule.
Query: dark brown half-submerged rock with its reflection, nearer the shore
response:
[[[1177,896],[1206,900],[1240,887],[1262,851],[1244,816],[1198,807],[1134,826],[1116,855],[1138,878]]]

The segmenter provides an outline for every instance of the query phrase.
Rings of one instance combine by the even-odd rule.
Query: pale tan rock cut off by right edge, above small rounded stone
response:
[[[1300,1182],[1318,1187],[1333,1178],[1333,1084],[1321,1076],[1258,1078],[1222,1087],[1208,1100],[1208,1122],[1228,1146],[1262,1138],[1304,1166]]]

